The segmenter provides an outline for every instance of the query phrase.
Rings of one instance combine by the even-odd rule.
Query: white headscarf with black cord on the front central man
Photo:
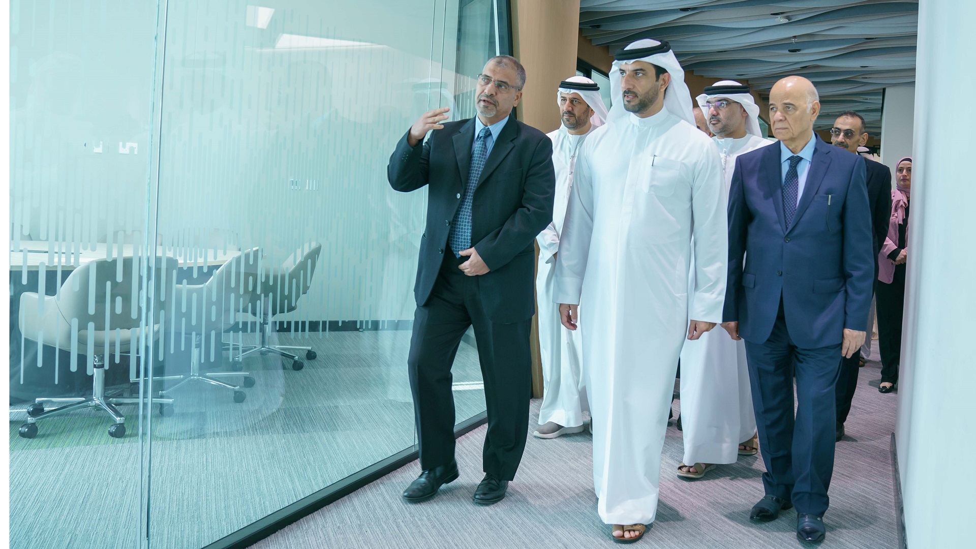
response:
[[[636,51],[630,53],[630,50]],[[641,54],[642,57],[635,57]],[[668,42],[644,38],[630,43],[622,50],[617,50],[615,57],[617,59],[613,62],[613,69],[610,71],[610,97],[614,98],[614,103],[607,115],[608,122],[619,120],[628,114],[621,99],[624,97],[624,90],[621,86],[620,66],[642,61],[660,66],[671,74],[671,83],[665,89],[665,108],[692,126],[695,125],[695,114],[691,111],[691,92],[688,91],[688,85],[684,83],[684,69],[674,57]]]

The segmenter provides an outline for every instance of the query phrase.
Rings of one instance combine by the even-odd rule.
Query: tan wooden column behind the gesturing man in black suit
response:
[[[518,119],[543,132],[559,127],[555,91],[559,82],[576,75],[579,26],[579,0],[511,0],[514,55],[525,66],[526,73]],[[538,317],[537,308],[532,319],[532,397],[536,399],[543,396]]]

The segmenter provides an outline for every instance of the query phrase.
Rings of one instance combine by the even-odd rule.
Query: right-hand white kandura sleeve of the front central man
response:
[[[695,287],[688,288],[694,292],[688,318],[692,320],[722,321],[729,255],[727,195],[718,148],[710,140],[695,164],[691,190]]]

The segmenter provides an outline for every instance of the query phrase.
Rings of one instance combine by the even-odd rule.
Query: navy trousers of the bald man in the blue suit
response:
[[[765,343],[746,341],[752,406],[767,495],[792,501],[797,513],[823,516],[834,474],[834,391],[840,344],[808,349],[790,337],[783,302]],[[796,408],[793,413],[793,375]]]

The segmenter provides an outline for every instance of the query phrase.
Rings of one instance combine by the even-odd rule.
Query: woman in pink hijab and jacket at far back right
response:
[[[898,161],[895,168],[898,189],[891,191],[891,220],[888,236],[877,256],[875,290],[877,344],[881,352],[881,384],[877,390],[891,393],[898,384],[902,350],[902,313],[905,310],[905,264],[908,261],[909,202],[912,195],[912,158]]]

